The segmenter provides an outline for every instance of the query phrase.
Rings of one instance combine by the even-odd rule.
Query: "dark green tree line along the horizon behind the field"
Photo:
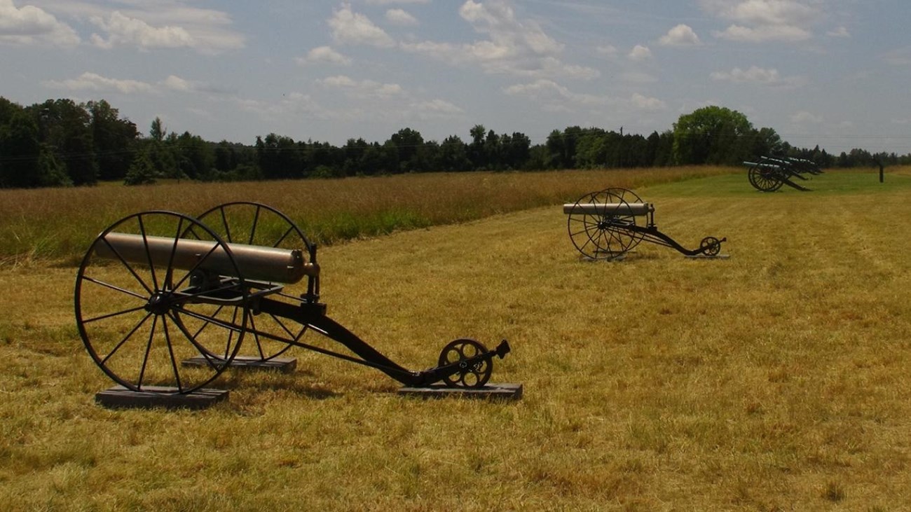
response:
[[[107,101],[77,104],[48,99],[22,107],[0,97],[0,188],[128,185],[157,179],[202,181],[342,178],[407,172],[546,170],[741,165],[758,156],[812,159],[821,167],[911,164],[911,154],[839,156],[818,146],[794,148],[773,128],[753,128],[742,113],[705,107],[682,115],[671,129],[638,134],[580,128],[554,129],[533,144],[521,132],[496,133],[483,125],[442,142],[402,128],[383,143],[350,138],[341,147],[295,141],[270,133],[252,145],[211,142],[185,131],[168,132],[161,120],[148,134],[121,118]]]

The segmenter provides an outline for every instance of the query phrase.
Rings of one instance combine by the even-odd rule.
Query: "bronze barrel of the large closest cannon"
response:
[[[319,267],[303,261],[300,249],[278,249],[244,243],[226,243],[237,270],[224,247],[217,241],[173,239],[109,232],[95,242],[99,258],[123,258],[130,263],[174,267],[185,271],[200,269],[232,276],[240,271],[244,279],[265,282],[299,282],[303,276],[319,274]],[[218,247],[216,247],[218,246]]]

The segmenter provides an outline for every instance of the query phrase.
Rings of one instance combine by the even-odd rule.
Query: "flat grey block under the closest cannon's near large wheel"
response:
[[[192,393],[178,393],[176,387],[145,386],[146,391],[133,391],[122,385],[95,394],[95,402],[111,409],[205,409],[228,399],[226,389],[198,389]]]

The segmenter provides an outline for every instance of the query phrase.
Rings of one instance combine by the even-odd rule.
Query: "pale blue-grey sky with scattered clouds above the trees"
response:
[[[148,134],[425,140],[671,129],[911,153],[907,0],[0,0],[0,96],[105,99]]]

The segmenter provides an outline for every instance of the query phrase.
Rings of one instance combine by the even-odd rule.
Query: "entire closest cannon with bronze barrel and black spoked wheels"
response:
[[[488,350],[459,338],[428,369],[394,363],[326,314],[316,249],[286,215],[256,202],[198,217],[129,215],[97,235],[79,266],[79,335],[121,389],[157,395],[204,392],[230,366],[268,366],[292,347],[372,367],[408,388],[480,390],[494,359],[510,352],[506,340]],[[305,292],[285,290],[303,280]],[[311,332],[317,342],[305,341]]]

